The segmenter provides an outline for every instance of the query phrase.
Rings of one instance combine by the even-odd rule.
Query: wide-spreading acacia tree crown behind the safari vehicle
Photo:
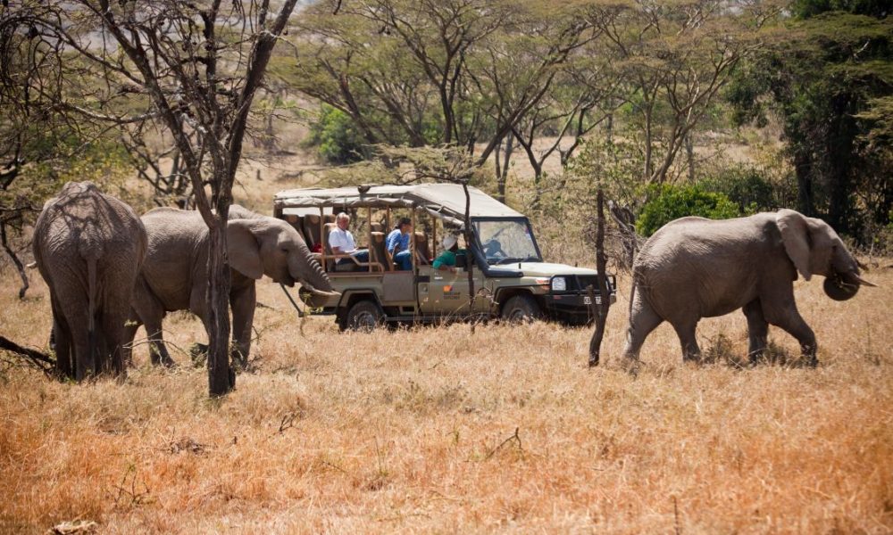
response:
[[[345,0],[328,13],[315,4],[301,21],[296,88],[369,144],[482,144],[479,165],[592,38],[572,7],[532,0]]]

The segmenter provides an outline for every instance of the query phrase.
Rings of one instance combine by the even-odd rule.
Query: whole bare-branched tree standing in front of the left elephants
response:
[[[34,97],[107,128],[157,119],[170,133],[209,229],[205,329],[212,396],[235,383],[226,256],[232,187],[252,102],[295,4],[72,0],[4,4],[0,13],[0,29],[42,43],[34,59],[57,60],[53,74],[60,84],[52,94],[35,84]],[[102,83],[89,83],[96,79]]]

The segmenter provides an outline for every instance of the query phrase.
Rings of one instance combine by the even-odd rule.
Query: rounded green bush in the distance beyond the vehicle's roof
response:
[[[329,104],[322,104],[319,119],[310,126],[306,144],[317,147],[323,161],[344,165],[364,159],[363,142],[363,136],[350,116]]]

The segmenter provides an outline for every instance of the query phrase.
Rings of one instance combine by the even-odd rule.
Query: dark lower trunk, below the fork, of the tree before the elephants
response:
[[[208,291],[205,295],[208,331],[208,393],[226,395],[236,387],[230,366],[230,265],[226,258],[226,221],[230,202],[226,195],[216,199],[216,225],[208,229]]]

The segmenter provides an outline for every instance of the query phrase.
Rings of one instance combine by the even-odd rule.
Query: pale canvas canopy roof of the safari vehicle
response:
[[[525,218],[474,186],[468,186],[471,218]],[[274,206],[288,209],[333,207],[412,208],[463,226],[465,193],[459,184],[358,185],[330,189],[301,188],[276,193]]]

